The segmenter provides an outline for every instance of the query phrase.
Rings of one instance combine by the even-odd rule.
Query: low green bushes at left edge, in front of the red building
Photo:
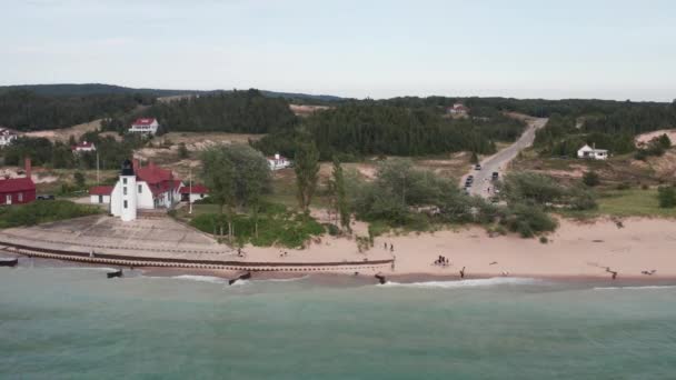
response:
[[[101,212],[101,209],[98,207],[78,204],[64,200],[34,201],[28,204],[1,207],[0,228],[34,226]]]

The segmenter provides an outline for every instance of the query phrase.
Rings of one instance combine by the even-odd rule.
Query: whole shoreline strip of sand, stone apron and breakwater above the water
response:
[[[465,268],[465,279],[506,277],[608,283],[620,280],[676,281],[675,220],[627,218],[622,227],[612,219],[594,223],[563,219],[559,222],[559,229],[547,236],[546,243],[514,234],[490,236],[480,227],[467,226],[434,232],[389,233],[376,237],[367,250],[359,250],[354,237],[330,236],[314,239],[305,249],[247,246],[242,249],[245,257],[238,257],[236,252],[187,251],[187,248],[213,252],[223,249],[222,246],[200,242],[199,246],[185,247],[181,252],[171,251],[172,248],[176,250],[172,244],[158,244],[152,253],[149,250],[97,250],[91,259],[88,253],[91,248],[86,243],[78,244],[78,234],[72,232],[78,230],[64,231],[60,224],[3,230],[1,240],[6,246],[2,250],[8,254],[63,259],[54,253],[72,253],[66,259],[73,262],[93,260],[97,261],[95,266],[133,266],[153,272],[173,269],[178,274],[225,278],[245,271],[251,271],[255,278],[289,278],[308,273],[354,277],[357,272],[362,278],[381,273],[391,281],[457,281]],[[133,226],[125,224],[125,231],[133,229]],[[34,236],[42,240],[30,238]],[[46,242],[47,238],[49,242]],[[145,237],[120,234],[106,241],[152,247]],[[11,246],[18,249],[8,250]],[[445,258],[445,266],[434,263],[440,256]],[[613,272],[617,272],[616,280],[612,279]]]

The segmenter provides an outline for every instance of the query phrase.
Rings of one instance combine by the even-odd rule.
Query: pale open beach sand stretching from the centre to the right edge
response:
[[[459,277],[536,278],[676,278],[676,221],[665,219],[626,219],[576,222],[559,220],[560,227],[547,243],[518,236],[489,237],[479,228],[434,233],[389,234],[375,239],[374,248],[359,253],[355,241],[325,238],[306,250],[247,247],[247,260],[255,261],[340,261],[367,257],[370,260],[396,257],[394,270],[386,274],[426,274]],[[388,249],[384,249],[384,244]],[[394,246],[390,252],[389,246]],[[435,266],[444,256],[450,264]],[[653,276],[642,271],[656,270]]]

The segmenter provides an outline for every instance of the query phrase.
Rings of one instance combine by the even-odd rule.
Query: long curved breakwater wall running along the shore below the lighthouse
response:
[[[84,263],[103,263],[122,267],[141,268],[186,268],[186,269],[220,269],[233,271],[331,271],[331,270],[364,270],[378,269],[389,266],[392,259],[365,261],[329,261],[329,262],[265,262],[237,260],[202,260],[181,258],[158,258],[142,256],[125,256],[110,253],[77,252],[40,247],[30,247],[8,241],[0,246],[12,248],[11,253],[44,259],[77,261]]]

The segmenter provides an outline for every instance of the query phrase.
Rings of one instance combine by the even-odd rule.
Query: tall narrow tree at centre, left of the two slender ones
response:
[[[309,136],[301,136],[296,141],[294,170],[298,187],[298,207],[307,213],[319,179],[319,151]]]

